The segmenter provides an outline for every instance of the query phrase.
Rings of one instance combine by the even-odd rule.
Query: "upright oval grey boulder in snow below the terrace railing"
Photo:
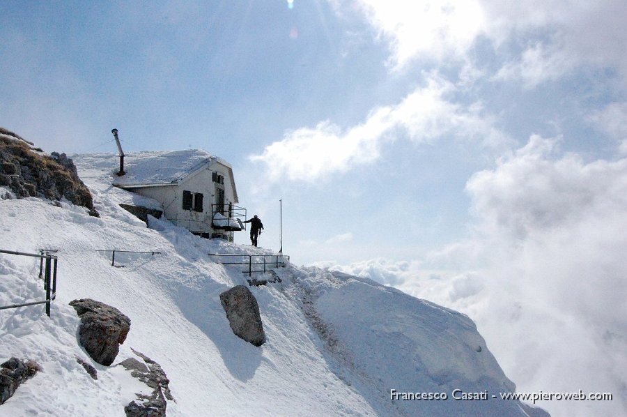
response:
[[[259,305],[247,287],[238,285],[224,291],[220,294],[220,302],[236,336],[255,346],[261,346],[265,342]]]

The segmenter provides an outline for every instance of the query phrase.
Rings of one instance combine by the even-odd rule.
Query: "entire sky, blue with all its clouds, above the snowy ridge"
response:
[[[0,126],[215,153],[262,246],[282,199],[295,263],[469,314],[519,390],[619,395],[558,414],[626,414],[626,21],[624,0],[3,1]]]

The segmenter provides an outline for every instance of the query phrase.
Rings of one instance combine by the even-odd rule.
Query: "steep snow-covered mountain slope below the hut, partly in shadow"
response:
[[[111,187],[115,167],[75,157],[101,218],[41,199],[0,200],[0,249],[59,250],[52,318],[42,306],[0,310],[0,361],[38,362],[42,372],[0,406],[0,416],[123,416],[139,386],[121,367],[91,361],[77,344],[79,319],[68,303],[94,298],[131,319],[115,363],[130,348],[160,363],[171,380],[171,416],[545,415],[492,399],[509,381],[465,315],[371,280],[318,268],[278,268],[282,282],[251,287],[267,342],[233,335],[219,294],[245,284],[241,267],[208,253],[270,254],[199,238],[165,220],[151,228],[118,206],[135,197]],[[98,250],[156,251],[158,255]],[[0,305],[42,298],[38,261],[0,255]],[[98,369],[94,381],[75,357]],[[454,389],[490,394],[458,401]],[[392,401],[398,392],[447,393],[448,400]]]

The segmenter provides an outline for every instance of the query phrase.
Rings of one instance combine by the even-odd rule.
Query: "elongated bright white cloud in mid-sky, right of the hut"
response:
[[[420,143],[447,135],[474,139],[482,146],[502,145],[506,137],[493,127],[492,117],[483,114],[481,105],[463,107],[447,100],[454,91],[453,84],[431,77],[427,86],[398,105],[374,109],[364,123],[342,130],[325,121],[315,128],[286,132],[284,139],[250,160],[265,163],[270,181],[314,183],[377,160],[382,145],[398,137]]]

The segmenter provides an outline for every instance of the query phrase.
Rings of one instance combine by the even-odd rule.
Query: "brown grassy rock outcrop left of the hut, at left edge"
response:
[[[41,197],[56,202],[65,198],[99,217],[91,192],[79,179],[74,162],[65,153],[53,152],[47,156],[3,128],[0,128],[0,186],[11,190],[17,198]]]

